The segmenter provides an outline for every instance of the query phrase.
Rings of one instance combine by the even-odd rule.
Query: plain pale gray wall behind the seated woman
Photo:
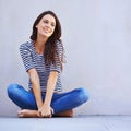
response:
[[[19,46],[45,10],[55,11],[62,25],[64,91],[84,86],[91,95],[76,115],[131,115],[130,7],[130,0],[0,0],[0,116],[16,115],[7,86],[27,87]]]

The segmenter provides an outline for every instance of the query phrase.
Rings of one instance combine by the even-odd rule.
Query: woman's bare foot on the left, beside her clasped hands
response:
[[[20,118],[38,118],[37,110],[22,109],[17,112]]]

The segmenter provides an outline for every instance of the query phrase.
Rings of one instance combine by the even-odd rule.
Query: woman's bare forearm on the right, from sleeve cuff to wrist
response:
[[[58,72],[51,71],[49,74],[49,79],[47,82],[47,91],[44,105],[50,106],[52,94],[55,92],[56,83],[57,83]]]

